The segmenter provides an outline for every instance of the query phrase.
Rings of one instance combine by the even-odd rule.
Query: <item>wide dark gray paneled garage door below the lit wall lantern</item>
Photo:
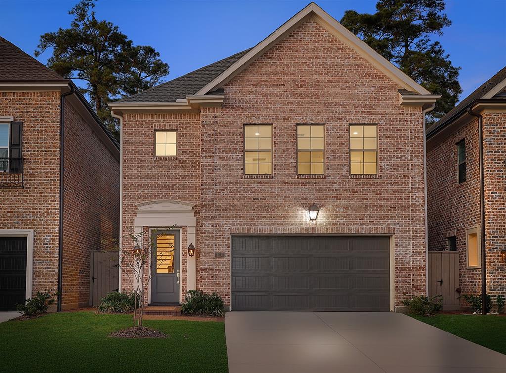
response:
[[[234,311],[389,311],[389,237],[233,236]]]

